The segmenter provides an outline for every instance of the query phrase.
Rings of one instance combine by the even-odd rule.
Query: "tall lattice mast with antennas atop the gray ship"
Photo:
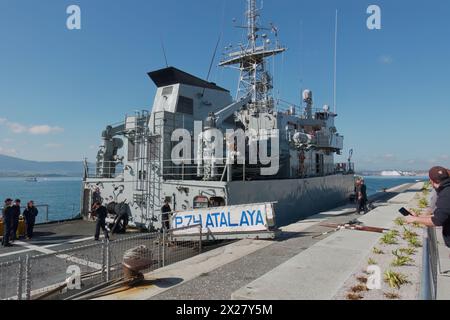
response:
[[[286,49],[279,46],[278,40],[273,45],[267,34],[260,34],[261,30],[268,30],[278,36],[278,30],[271,24],[270,28],[259,24],[259,11],[256,0],[247,0],[247,29],[248,41],[246,45],[239,45],[239,49],[226,55],[219,66],[235,67],[240,71],[239,85],[236,99],[251,96],[249,108],[255,112],[268,112],[274,107],[272,97],[272,76],[267,71],[267,58],[278,55]]]

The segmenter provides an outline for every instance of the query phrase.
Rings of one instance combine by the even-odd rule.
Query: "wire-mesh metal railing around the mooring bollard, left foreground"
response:
[[[127,285],[137,273],[150,273],[200,254],[199,233],[189,239],[175,237],[171,230],[117,235],[111,241],[1,262],[0,300],[92,299],[96,288],[119,282]],[[126,263],[126,257],[133,260],[135,255],[145,264]]]

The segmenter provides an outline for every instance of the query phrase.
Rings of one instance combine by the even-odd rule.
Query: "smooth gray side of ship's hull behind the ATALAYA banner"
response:
[[[308,179],[231,182],[228,203],[275,202],[278,227],[295,223],[314,214],[349,202],[354,193],[352,175],[332,175]]]

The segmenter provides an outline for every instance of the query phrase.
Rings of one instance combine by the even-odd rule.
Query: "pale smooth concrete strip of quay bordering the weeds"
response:
[[[398,210],[408,206],[422,186],[411,186],[358,220],[366,226],[391,229]],[[331,300],[367,259],[380,238],[378,233],[339,231],[236,290],[232,299]]]

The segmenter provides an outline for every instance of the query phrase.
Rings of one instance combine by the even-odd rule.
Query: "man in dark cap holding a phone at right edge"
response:
[[[433,215],[418,217],[411,213],[406,221],[418,222],[428,227],[442,227],[445,244],[450,248],[450,174],[443,167],[434,167],[430,170],[430,181],[437,192]]]

